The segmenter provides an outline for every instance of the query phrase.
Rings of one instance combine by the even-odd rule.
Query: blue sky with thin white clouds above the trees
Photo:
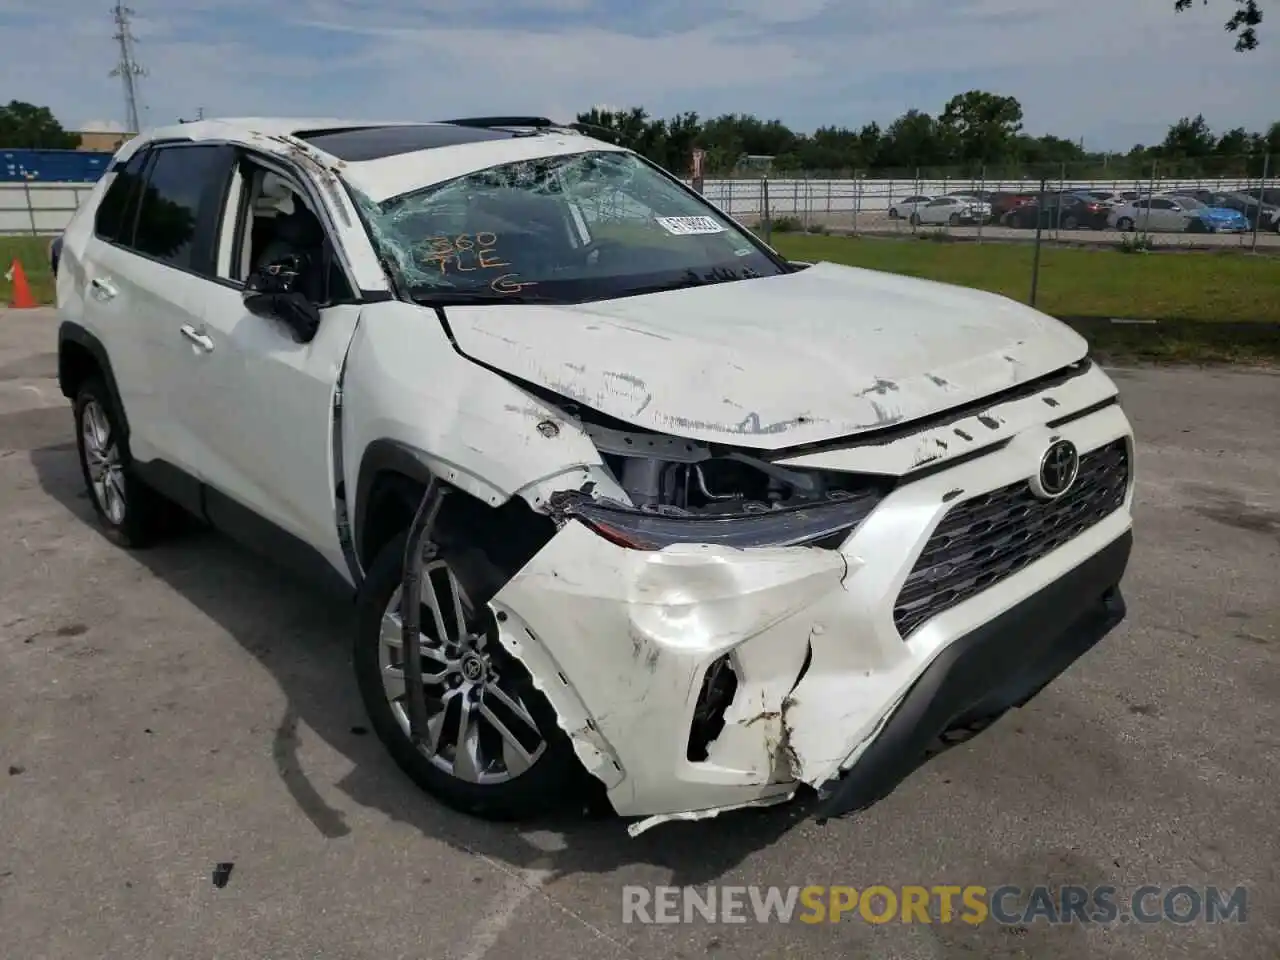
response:
[[[106,0],[0,0],[0,97],[120,124]],[[1228,0],[133,0],[143,123],[444,119],[593,105],[754,113],[809,131],[1016,96],[1032,133],[1152,142],[1183,115],[1280,120],[1280,23],[1236,54]]]

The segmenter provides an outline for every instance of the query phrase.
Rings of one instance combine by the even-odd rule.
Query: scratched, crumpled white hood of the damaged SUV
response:
[[[945,411],[1087,352],[992,293],[836,264],[571,306],[447,310],[463,353],[636,426],[780,449]]]

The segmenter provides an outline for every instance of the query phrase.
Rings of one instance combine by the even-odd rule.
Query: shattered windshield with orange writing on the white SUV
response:
[[[631,154],[500,164],[365,210],[422,302],[584,302],[786,268]]]

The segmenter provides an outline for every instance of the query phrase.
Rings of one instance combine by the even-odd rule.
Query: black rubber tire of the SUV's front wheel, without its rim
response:
[[[571,801],[591,800],[588,783],[590,774],[579,763],[572,744],[557,722],[556,712],[534,686],[524,664],[507,654],[495,639],[488,645],[490,657],[500,657],[500,669],[512,677],[508,682],[518,690],[524,707],[534,718],[538,732],[547,744],[543,753],[536,756],[532,765],[509,780],[498,783],[474,783],[440,769],[413,746],[387,699],[379,660],[383,613],[401,586],[406,540],[407,531],[396,536],[381,549],[369,570],[369,576],[361,588],[353,650],[356,682],[365,710],[396,764],[440,803],[461,813],[489,820],[529,820],[567,808]],[[449,563],[463,591],[468,595],[485,595],[484,581],[492,573],[483,570],[483,564],[486,563],[483,557],[477,564],[476,553],[470,550],[468,556],[460,556],[461,552],[454,552],[451,556],[448,548],[442,549],[442,556]],[[430,622],[430,613],[425,609],[422,616],[424,623]],[[488,607],[479,616],[489,618],[486,627],[492,631],[495,625]]]

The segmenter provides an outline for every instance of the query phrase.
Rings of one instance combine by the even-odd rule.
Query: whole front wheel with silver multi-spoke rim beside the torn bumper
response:
[[[460,553],[442,553],[422,572],[426,731],[424,742],[411,740],[399,616],[406,540],[383,548],[360,600],[356,681],[379,739],[413,782],[462,813],[524,820],[564,805],[588,774],[550,704],[498,640],[493,611],[471,603],[485,577]]]

